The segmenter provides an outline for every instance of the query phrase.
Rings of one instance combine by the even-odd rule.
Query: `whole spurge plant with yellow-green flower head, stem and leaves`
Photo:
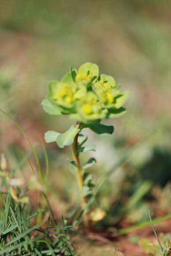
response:
[[[81,165],[79,154],[95,151],[96,145],[83,146],[87,136],[82,135],[85,128],[97,134],[112,134],[113,126],[100,124],[106,118],[120,117],[126,110],[123,104],[129,96],[129,91],[120,92],[120,85],[110,75],[99,75],[96,64],[85,63],[78,71],[70,68],[61,81],[48,83],[48,94],[41,102],[43,109],[50,115],[69,115],[76,121],[75,126],[64,133],[48,131],[45,140],[48,143],[56,142],[60,148],[72,145],[73,160],[69,160],[71,172],[76,177],[80,192],[82,208],[91,198],[94,184],[92,175],[87,168],[96,162],[90,158],[85,165]],[[87,218],[84,215],[84,221]]]

